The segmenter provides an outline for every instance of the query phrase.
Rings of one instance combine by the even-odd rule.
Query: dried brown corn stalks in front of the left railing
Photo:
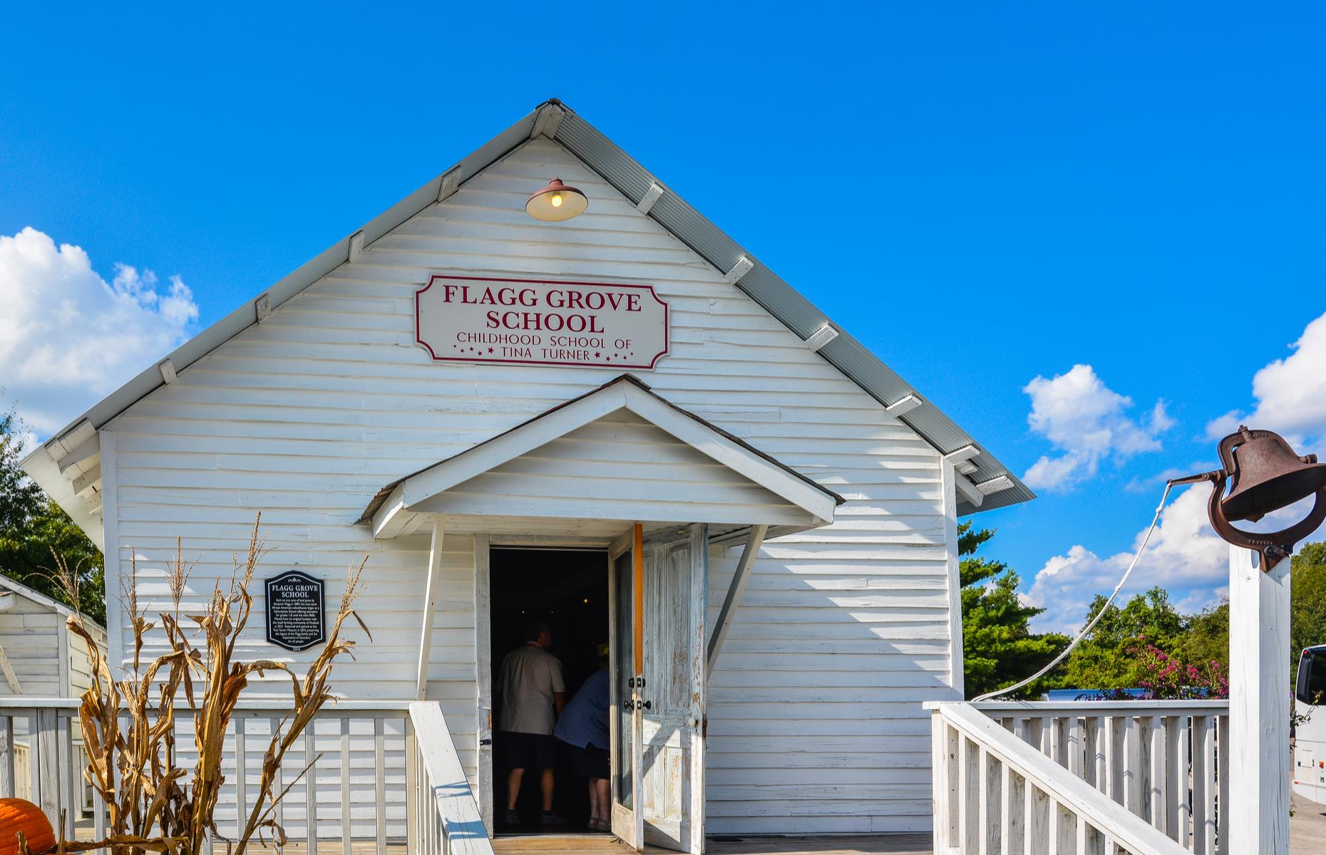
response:
[[[122,603],[134,632],[133,667],[121,680],[114,679],[110,663],[102,657],[82,620],[72,616],[69,630],[84,639],[91,659],[91,687],[82,695],[80,720],[88,768],[84,777],[106,805],[107,834],[102,840],[66,840],[61,831],[57,846],[62,852],[110,848],[113,855],[168,852],[199,855],[208,832],[225,840],[233,855],[243,855],[253,838],[272,836],[284,843],[285,832],[276,823],[276,805],[285,797],[308,768],[284,790],[274,783],[286,752],[312,724],[317,712],[332,699],[328,679],[332,665],[342,654],[350,655],[354,642],[341,638],[349,618],[369,635],[363,620],[354,611],[362,589],[363,566],[351,567],[335,623],[318,654],[301,679],[285,664],[272,660],[235,661],[235,646],[244,632],[253,598],[248,593],[253,571],[265,553],[259,537],[259,520],[253,522],[248,554],[235,558],[235,571],[228,590],[216,586],[202,614],[180,615],[192,565],[183,558],[176,540],[175,559],[167,574],[174,608],[159,615],[160,628],[170,651],[145,661],[145,640],[158,623],[147,619],[146,607],[138,602],[137,558],[130,578],[123,583]],[[70,602],[78,602],[77,577],[57,555],[57,579],[65,586]],[[110,627],[114,632],[118,627]],[[371,640],[371,635],[369,635]],[[212,819],[216,798],[225,778],[221,775],[223,744],[235,704],[248,685],[251,673],[282,672],[290,679],[290,711],[272,734],[263,754],[257,797],[233,840],[223,838]],[[198,762],[192,777],[175,765],[175,714],[178,704],[187,704],[194,714],[194,748]],[[27,846],[23,855],[29,855]]]

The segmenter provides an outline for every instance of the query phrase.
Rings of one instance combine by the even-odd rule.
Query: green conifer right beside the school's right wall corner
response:
[[[989,529],[957,529],[963,590],[963,688],[967,697],[1010,685],[1032,676],[1062,651],[1069,640],[1057,632],[1032,632],[1032,618],[1045,611],[1017,597],[1018,577],[1001,561],[975,557],[994,536]],[[1045,677],[1022,689],[1032,697],[1052,687]]]

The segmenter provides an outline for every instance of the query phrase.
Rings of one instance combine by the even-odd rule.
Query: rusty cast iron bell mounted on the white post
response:
[[[1229,543],[1261,553],[1262,570],[1269,571],[1280,563],[1298,541],[1326,520],[1326,464],[1317,463],[1317,455],[1296,455],[1278,433],[1249,431],[1240,424],[1237,433],[1220,440],[1220,463],[1224,469],[1189,475],[1170,484],[1212,481],[1207,505],[1211,526]],[[1233,489],[1227,496],[1225,484],[1231,479]],[[1256,522],[1309,496],[1317,496],[1311,512],[1288,529],[1264,534],[1244,532],[1231,524],[1232,520]]]

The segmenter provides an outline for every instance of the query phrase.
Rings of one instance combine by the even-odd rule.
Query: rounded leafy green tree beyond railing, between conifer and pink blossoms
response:
[[[1101,611],[1105,600],[1101,595],[1091,600],[1083,624]],[[1063,685],[1075,689],[1138,687],[1147,680],[1146,663],[1138,650],[1150,644],[1166,655],[1176,655],[1185,632],[1183,615],[1170,603],[1170,594],[1163,587],[1134,597],[1123,608],[1111,604],[1091,635],[1082,639],[1059,668]]]

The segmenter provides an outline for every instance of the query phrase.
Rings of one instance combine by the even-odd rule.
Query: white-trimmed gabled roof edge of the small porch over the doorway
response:
[[[809,514],[814,525],[833,521],[845,500],[727,431],[658,395],[639,378],[617,376],[595,390],[562,402],[509,431],[479,443],[412,475],[387,484],[369,501],[358,522],[370,522],[374,537],[399,530],[398,514],[412,513],[435,496],[489,469],[540,448],[618,410],[627,410],[662,428],[704,456],[739,472]],[[764,520],[745,520],[762,524]],[[383,533],[383,532],[392,533]]]

